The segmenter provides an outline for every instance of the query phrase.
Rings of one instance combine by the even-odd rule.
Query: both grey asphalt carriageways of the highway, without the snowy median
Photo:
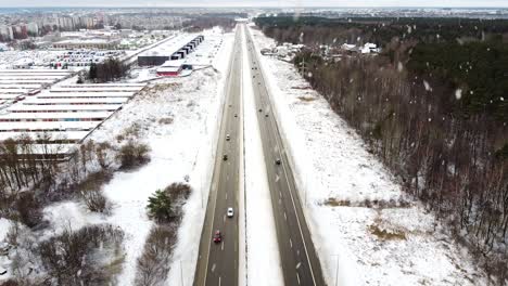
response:
[[[227,77],[215,169],[200,242],[194,286],[236,286],[239,283],[240,166],[242,160],[242,32],[245,34],[250,76],[259,123],[284,285],[325,286],[319,258],[302,209],[293,172],[274,114],[258,55],[246,26],[237,26],[233,54]],[[251,88],[251,87],[249,87]],[[227,155],[227,158],[224,157]],[[250,190],[255,192],[255,190]],[[234,216],[227,217],[232,207]],[[243,210],[241,210],[243,211]],[[223,234],[214,243],[216,231]],[[259,234],[263,235],[263,234]],[[271,261],[266,261],[271,263]],[[278,266],[278,265],[274,265]],[[257,286],[257,285],[255,285]]]

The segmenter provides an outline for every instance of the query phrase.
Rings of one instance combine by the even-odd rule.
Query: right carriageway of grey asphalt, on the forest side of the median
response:
[[[293,172],[274,117],[270,94],[259,68],[258,54],[255,52],[252,36],[246,26],[243,25],[243,28],[246,34],[249,64],[284,284],[287,286],[326,285],[319,258],[302,210],[302,204],[305,202],[302,202],[296,190]],[[277,160],[280,162],[278,164]]]

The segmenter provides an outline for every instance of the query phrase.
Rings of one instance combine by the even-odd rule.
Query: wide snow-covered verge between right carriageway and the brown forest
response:
[[[257,52],[274,44],[257,29],[251,32]],[[440,231],[432,213],[404,195],[390,171],[292,64],[267,56],[261,61],[291,142],[293,169],[328,284],[335,284],[336,273],[339,285],[486,284],[468,251]]]

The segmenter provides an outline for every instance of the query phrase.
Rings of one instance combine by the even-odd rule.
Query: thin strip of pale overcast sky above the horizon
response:
[[[0,0],[0,6],[504,6],[508,0]]]

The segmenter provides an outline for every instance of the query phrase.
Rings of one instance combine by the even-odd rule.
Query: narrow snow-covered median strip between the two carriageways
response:
[[[277,286],[282,270],[245,40],[242,49],[247,285]]]

